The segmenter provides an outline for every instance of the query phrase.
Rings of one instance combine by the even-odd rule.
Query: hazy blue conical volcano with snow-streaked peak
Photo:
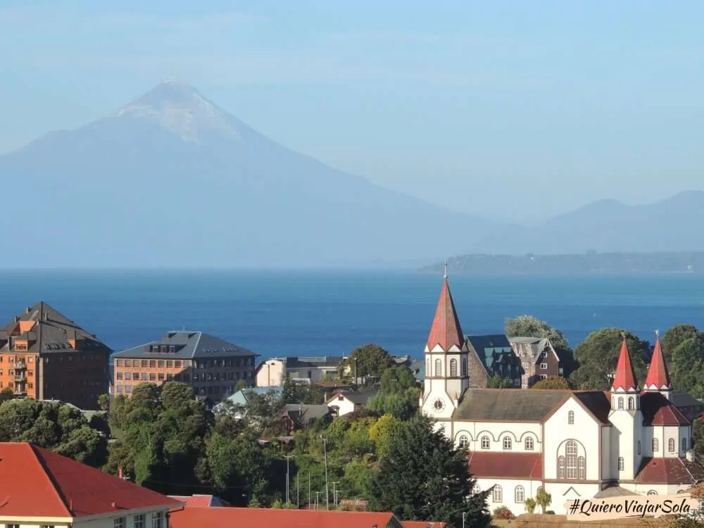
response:
[[[17,266],[434,260],[496,226],[272,142],[187,84],[0,157]]]

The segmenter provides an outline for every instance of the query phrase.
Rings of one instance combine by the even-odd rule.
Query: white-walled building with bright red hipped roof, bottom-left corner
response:
[[[181,503],[27,443],[0,444],[0,524],[166,528]],[[120,524],[122,522],[122,524]]]

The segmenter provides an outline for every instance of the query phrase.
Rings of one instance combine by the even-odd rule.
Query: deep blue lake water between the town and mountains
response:
[[[442,278],[412,272],[1,272],[0,322],[42,300],[115,350],[201,330],[263,357],[345,354],[377,343],[422,355]],[[536,315],[572,346],[594,329],[704,325],[704,275],[450,277],[465,334]]]

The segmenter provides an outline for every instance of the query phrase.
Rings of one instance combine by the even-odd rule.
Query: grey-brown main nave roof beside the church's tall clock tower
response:
[[[467,389],[453,420],[541,422],[572,391],[539,389]]]

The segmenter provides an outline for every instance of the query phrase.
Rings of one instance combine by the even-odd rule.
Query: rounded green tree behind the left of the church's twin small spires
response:
[[[575,348],[579,368],[570,375],[573,386],[577,389],[608,390],[621,351],[622,334],[622,329],[602,328],[591,332]],[[642,383],[646,375],[646,358],[650,353],[650,344],[630,332],[625,334],[631,363],[637,379]]]

